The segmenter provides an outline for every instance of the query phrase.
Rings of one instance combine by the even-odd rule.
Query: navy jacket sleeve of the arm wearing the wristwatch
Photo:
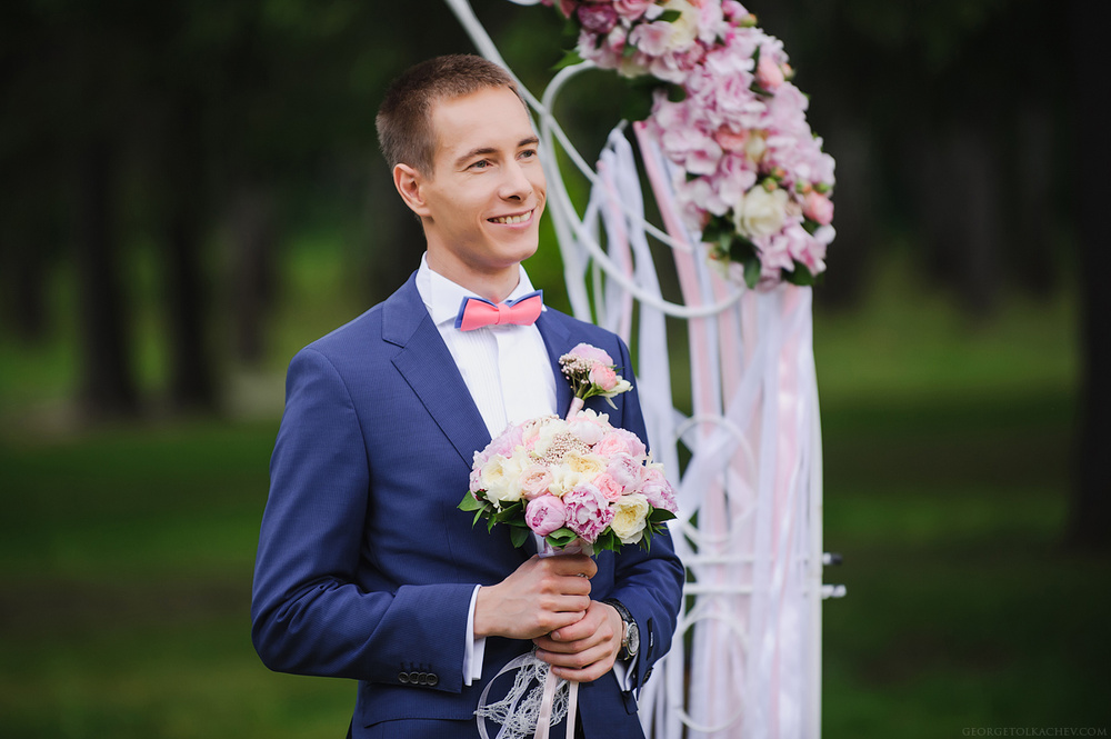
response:
[[[623,341],[619,342],[620,367],[631,368],[629,349]],[[621,426],[648,443],[635,382],[633,389],[621,397]],[[640,651],[632,671],[633,685],[638,689],[648,679],[652,666],[671,648],[683,602],[684,579],[685,570],[667,530],[652,537],[647,552],[640,547],[623,547],[617,555],[613,591],[605,597],[620,600],[640,629]]]

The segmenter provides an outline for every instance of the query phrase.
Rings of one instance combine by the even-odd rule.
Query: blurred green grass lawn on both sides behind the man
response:
[[[819,312],[827,580],[849,588],[825,736],[1111,726],[1111,562],[1060,546],[1071,322],[1012,300],[970,327],[928,294]],[[343,736],[353,685],[271,673],[249,640],[276,426],[6,428],[0,736]]]

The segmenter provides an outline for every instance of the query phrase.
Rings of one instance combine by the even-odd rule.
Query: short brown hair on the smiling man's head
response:
[[[521,98],[509,72],[474,54],[436,57],[410,67],[390,84],[374,121],[386,163],[393,169],[403,162],[431,174],[436,157],[432,106],[446,98],[500,87]]]

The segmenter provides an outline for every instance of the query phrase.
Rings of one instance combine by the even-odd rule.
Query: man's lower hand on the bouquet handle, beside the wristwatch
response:
[[[582,619],[532,641],[538,647],[537,658],[551,665],[557,677],[590,682],[613,667],[623,635],[624,623],[617,609],[592,600]]]

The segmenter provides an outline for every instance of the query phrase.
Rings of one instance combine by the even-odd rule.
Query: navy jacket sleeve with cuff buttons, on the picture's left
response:
[[[421,687],[459,692],[474,586],[358,585],[361,558],[370,566],[361,550],[371,462],[342,377],[327,357],[302,350],[290,363],[270,465],[254,647],[273,670],[394,685],[423,676]]]

